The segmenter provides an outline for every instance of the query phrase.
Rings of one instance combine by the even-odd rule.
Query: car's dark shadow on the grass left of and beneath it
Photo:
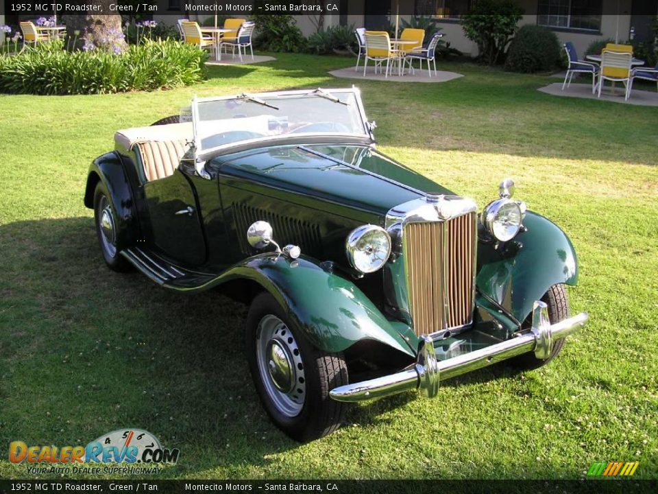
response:
[[[0,251],[0,324],[12,328],[0,336],[10,369],[3,381],[12,383],[1,388],[10,438],[84,445],[136,427],[180,449],[165,475],[219,467],[236,478],[299,446],[258,401],[244,354],[244,305],[112,272],[91,217],[0,226]],[[443,386],[507,372],[484,369]],[[385,412],[414,399],[408,392],[352,407],[347,423],[391,421]]]

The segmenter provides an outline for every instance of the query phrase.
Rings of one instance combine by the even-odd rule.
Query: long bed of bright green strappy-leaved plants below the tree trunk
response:
[[[204,77],[206,51],[174,40],[145,40],[123,54],[65,51],[62,41],[0,57],[0,93],[73,95],[153,91]]]

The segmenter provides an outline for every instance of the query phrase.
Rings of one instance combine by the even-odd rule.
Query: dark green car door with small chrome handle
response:
[[[152,242],[182,266],[206,261],[206,240],[196,193],[180,169],[144,185]]]

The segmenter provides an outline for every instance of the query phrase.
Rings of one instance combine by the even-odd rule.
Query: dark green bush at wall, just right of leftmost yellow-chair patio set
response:
[[[258,7],[258,3],[256,3]],[[306,38],[291,15],[254,15],[256,23],[254,48],[265,51],[292,51],[306,49]]]

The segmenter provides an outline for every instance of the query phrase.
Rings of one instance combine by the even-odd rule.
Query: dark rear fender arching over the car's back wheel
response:
[[[117,248],[123,250],[140,235],[132,187],[118,152],[103,154],[91,163],[84,194],[84,205],[88,208],[93,209],[94,207],[94,191],[99,181],[107,187],[110,193],[112,209],[119,220]]]

